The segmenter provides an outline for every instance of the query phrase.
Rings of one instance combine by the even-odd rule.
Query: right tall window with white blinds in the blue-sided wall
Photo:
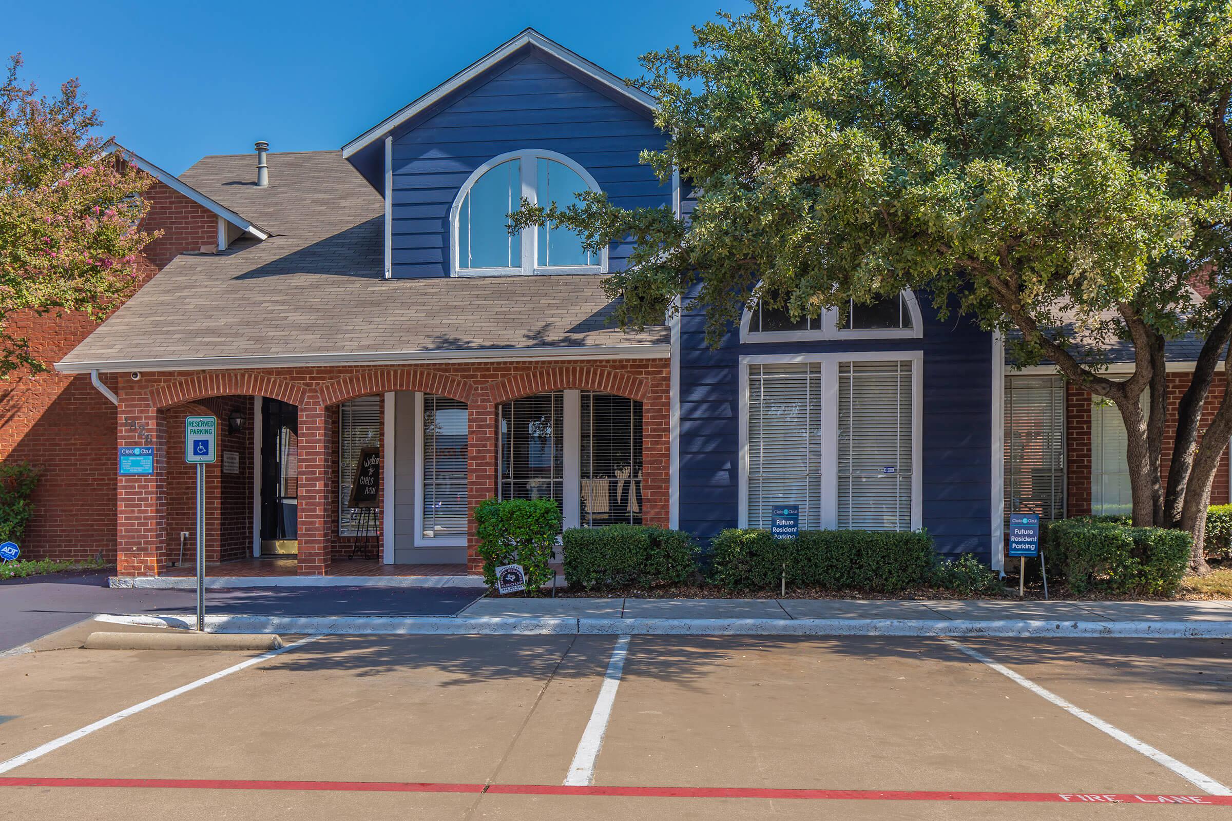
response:
[[[838,527],[912,529],[912,363],[840,362]]]

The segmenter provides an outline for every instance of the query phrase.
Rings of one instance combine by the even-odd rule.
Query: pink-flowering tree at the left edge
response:
[[[15,320],[80,311],[101,321],[131,293],[148,175],[102,154],[78,81],[39,96],[11,58],[0,86],[0,377],[46,369]]]

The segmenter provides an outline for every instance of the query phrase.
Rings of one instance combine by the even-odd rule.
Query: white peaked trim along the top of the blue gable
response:
[[[344,158],[352,156],[355,153],[362,150],[371,143],[375,143],[376,140],[381,139],[382,137],[384,137],[393,129],[398,128],[407,121],[411,119],[420,112],[426,111],[428,108],[432,107],[448,95],[453,94],[455,91],[464,86],[467,82],[474,80],[476,78],[478,78],[484,71],[496,65],[505,58],[510,57],[515,52],[526,47],[535,47],[546,52],[547,54],[561,60],[569,68],[590,78],[602,87],[606,87],[607,90],[621,95],[628,102],[641,108],[644,108],[648,113],[658,108],[659,105],[658,101],[650,95],[638,89],[632,89],[625,85],[625,81],[621,80],[615,74],[612,74],[611,71],[607,71],[606,69],[595,65],[594,63],[582,57],[580,54],[577,54],[575,52],[569,50],[568,48],[561,46],[559,43],[548,39],[547,37],[538,33],[533,28],[525,28],[521,32],[519,32],[519,34],[513,39],[509,39],[503,44],[498,46],[495,49],[488,52],[488,54],[483,55],[471,65],[466,66],[464,69],[451,76],[445,82],[440,84],[428,94],[421,95],[410,105],[399,108],[398,111],[389,114],[388,117],[382,119],[379,123],[377,123],[368,130],[363,132],[362,134],[352,139],[350,143],[342,146],[342,156]]]

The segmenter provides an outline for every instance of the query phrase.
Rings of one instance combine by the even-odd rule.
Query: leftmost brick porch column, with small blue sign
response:
[[[166,420],[144,391],[122,390],[116,422],[120,447],[154,448],[153,475],[116,481],[116,572],[156,576],[166,569]]]

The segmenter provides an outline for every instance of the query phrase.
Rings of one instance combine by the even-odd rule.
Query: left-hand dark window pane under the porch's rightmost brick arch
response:
[[[563,497],[564,391],[500,406],[500,499]]]

